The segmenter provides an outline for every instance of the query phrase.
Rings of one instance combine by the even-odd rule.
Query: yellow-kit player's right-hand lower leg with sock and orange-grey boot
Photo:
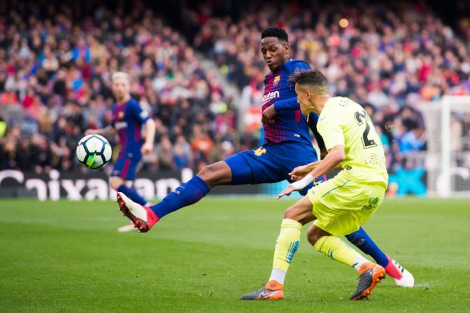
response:
[[[352,294],[351,300],[368,299],[376,284],[385,278],[385,269],[382,266],[370,262],[339,237],[333,236],[315,225],[308,229],[308,242],[315,247],[315,250],[324,253],[325,256],[352,266],[359,272],[359,284],[355,293]]]

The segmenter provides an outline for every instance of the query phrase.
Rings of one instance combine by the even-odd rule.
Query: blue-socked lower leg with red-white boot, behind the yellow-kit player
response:
[[[357,246],[362,252],[369,254],[378,265],[385,268],[390,277],[395,281],[395,284],[400,287],[413,287],[415,279],[413,275],[408,272],[404,267],[399,265],[396,260],[392,260],[389,256],[383,253],[375,242],[367,235],[364,228],[359,228],[357,232],[347,235],[346,238]]]

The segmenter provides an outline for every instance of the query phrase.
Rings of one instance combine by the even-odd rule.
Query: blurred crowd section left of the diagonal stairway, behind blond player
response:
[[[8,126],[0,169],[78,166],[74,149],[84,130],[111,123],[118,70],[134,79],[131,94],[157,123],[146,166],[201,167],[235,146],[253,147],[240,142],[234,104],[194,49],[142,3],[133,8],[99,7],[76,18],[66,4],[41,15],[31,2],[0,17],[0,118]]]

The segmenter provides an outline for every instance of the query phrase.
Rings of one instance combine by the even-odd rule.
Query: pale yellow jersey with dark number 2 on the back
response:
[[[318,118],[318,132],[327,150],[344,146],[340,175],[357,183],[380,183],[387,188],[385,153],[371,118],[351,99],[332,97]]]

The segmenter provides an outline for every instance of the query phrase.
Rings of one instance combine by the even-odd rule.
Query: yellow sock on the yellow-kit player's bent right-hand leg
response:
[[[325,256],[349,266],[355,265],[357,260],[366,260],[336,236],[323,236],[318,242],[315,242],[314,247],[315,250],[324,253]]]

